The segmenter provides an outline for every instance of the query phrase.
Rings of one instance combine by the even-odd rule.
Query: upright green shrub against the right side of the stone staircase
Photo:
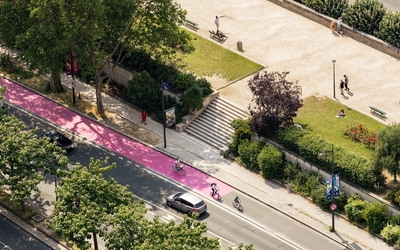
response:
[[[233,155],[239,156],[239,145],[245,139],[250,140],[251,135],[254,134],[251,131],[250,119],[233,119],[229,125],[235,129],[232,135],[233,143],[230,145],[230,150]]]

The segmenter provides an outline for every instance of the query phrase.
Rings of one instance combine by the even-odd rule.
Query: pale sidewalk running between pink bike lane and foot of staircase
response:
[[[72,79],[62,76],[66,87],[71,86]],[[76,90],[88,99],[95,100],[95,90],[90,85],[76,82]],[[105,93],[103,104],[106,109],[112,109],[123,117],[139,123],[140,112]],[[148,119],[147,125],[142,125],[160,136],[163,136],[162,125]],[[392,249],[382,240],[368,232],[351,225],[348,221],[335,217],[336,233],[329,232],[332,222],[330,213],[326,213],[307,199],[296,194],[289,194],[286,189],[274,182],[263,179],[247,169],[232,163],[220,156],[217,149],[197,140],[185,132],[177,133],[167,129],[167,148],[164,143],[157,147],[173,155],[179,156],[185,163],[213,176],[234,188],[258,199],[259,201],[291,216],[299,222],[308,225],[320,233],[341,242],[349,249]]]

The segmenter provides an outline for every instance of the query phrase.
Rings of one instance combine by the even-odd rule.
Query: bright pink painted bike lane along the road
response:
[[[175,173],[172,170],[175,159],[81,116],[8,79],[0,79],[0,87],[3,85],[7,85],[4,97],[10,102],[84,136],[128,159],[179,181],[206,196],[210,196],[210,185],[214,182],[220,187],[221,195],[226,195],[235,190],[228,184],[187,165],[185,165],[186,176]]]

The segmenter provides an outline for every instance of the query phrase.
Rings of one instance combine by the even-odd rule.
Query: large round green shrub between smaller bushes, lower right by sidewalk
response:
[[[387,205],[375,201],[374,204],[367,203],[364,210],[364,219],[370,231],[379,234],[387,222]]]

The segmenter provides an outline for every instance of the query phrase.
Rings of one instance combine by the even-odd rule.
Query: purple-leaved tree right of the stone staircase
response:
[[[300,99],[300,85],[297,81],[286,80],[288,74],[264,71],[249,80],[249,88],[253,93],[249,110],[254,132],[265,135],[276,131],[281,125],[293,124],[293,117],[303,106],[303,100]]]

